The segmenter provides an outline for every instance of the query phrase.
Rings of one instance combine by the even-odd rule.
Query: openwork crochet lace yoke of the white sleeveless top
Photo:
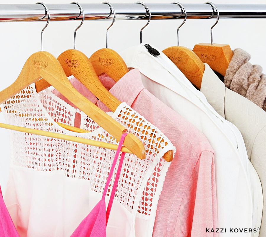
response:
[[[9,124],[118,144],[111,134],[88,116],[85,116],[83,128],[91,132],[77,133],[63,129],[54,121],[73,125],[78,110],[48,90],[37,94],[34,84],[4,102],[1,108]],[[115,198],[129,211],[150,215],[159,183],[162,188],[163,182],[159,182],[164,180],[160,175],[162,168],[169,166],[162,156],[168,150],[175,151],[175,147],[159,129],[126,103],[119,105],[112,117],[127,127],[128,132],[135,134],[146,150],[144,160],[126,153]],[[16,131],[11,131],[11,142],[12,164],[44,172],[64,171],[67,177],[89,180],[91,190],[103,193],[114,150]],[[113,182],[114,178],[107,195],[111,193]]]

